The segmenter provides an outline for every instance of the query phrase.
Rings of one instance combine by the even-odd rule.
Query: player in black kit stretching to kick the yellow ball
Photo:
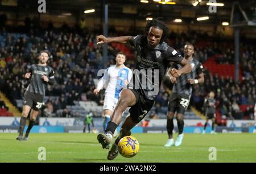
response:
[[[120,134],[108,154],[108,159],[113,160],[118,155],[117,144],[123,136],[130,135],[130,130],[146,116],[154,105],[162,78],[166,72],[167,65],[175,62],[183,66],[181,69],[172,69],[174,77],[192,70],[188,60],[181,57],[174,48],[169,47],[164,40],[168,35],[168,27],[162,21],[149,20],[145,27],[144,35],[120,36],[106,38],[103,35],[97,36],[97,44],[117,42],[129,43],[135,47],[137,58],[133,77],[129,89],[123,89],[119,94],[119,100],[110,118],[105,134],[98,134],[98,142],[102,148],[109,148],[113,133],[121,122],[122,113],[127,107],[130,115],[126,118],[121,127]],[[146,80],[146,82],[145,82]]]

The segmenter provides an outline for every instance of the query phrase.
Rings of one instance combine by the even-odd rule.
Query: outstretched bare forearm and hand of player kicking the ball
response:
[[[97,44],[117,42],[126,44],[131,39],[131,36],[119,36],[114,38],[106,38],[104,35],[96,36]]]

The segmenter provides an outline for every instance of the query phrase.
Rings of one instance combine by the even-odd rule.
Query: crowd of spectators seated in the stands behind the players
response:
[[[63,109],[65,117],[72,114],[67,105],[74,105],[73,101],[96,101],[102,104],[104,92],[94,96],[94,79],[98,69],[102,69],[102,46],[96,44],[95,36],[63,26],[60,29],[48,28],[27,34],[7,32],[0,34],[0,90],[6,94],[11,102],[21,100],[28,81],[24,80],[24,73],[31,64],[37,63],[38,53],[43,49],[50,52],[48,64],[55,69],[55,85],[47,86],[46,96],[56,96],[55,100],[46,103],[46,115],[51,115]],[[187,32],[176,34],[171,32],[169,44],[183,54],[186,42],[195,45],[195,58],[204,63],[208,57],[222,55],[216,60],[220,64],[233,64],[234,49],[232,40],[224,37],[212,37],[206,33]],[[222,38],[222,40],[220,40]],[[225,40],[225,42],[224,42]],[[205,70],[203,85],[195,85],[191,105],[203,111],[204,98],[213,90],[216,93],[217,108],[221,115],[229,118],[252,119],[253,105],[256,102],[254,71],[256,54],[254,47],[249,47],[247,41],[241,45],[240,63],[243,70],[242,81],[234,82],[232,78],[218,77]],[[117,48],[108,46],[108,65],[114,64]],[[127,60],[126,66],[133,68],[133,61]],[[171,87],[171,86],[170,86]],[[63,93],[64,92],[64,93]],[[167,107],[170,89],[162,87],[156,100],[156,113],[163,112]],[[248,105],[246,112],[242,112],[238,105]]]

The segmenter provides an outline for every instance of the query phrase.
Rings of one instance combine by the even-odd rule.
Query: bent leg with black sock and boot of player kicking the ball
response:
[[[123,111],[125,111],[127,107],[135,105],[135,103],[135,94],[130,89],[123,89],[119,94],[117,106],[108,122],[105,134],[98,134],[97,136],[97,139],[102,144],[103,148],[109,148],[114,131],[121,122]]]

